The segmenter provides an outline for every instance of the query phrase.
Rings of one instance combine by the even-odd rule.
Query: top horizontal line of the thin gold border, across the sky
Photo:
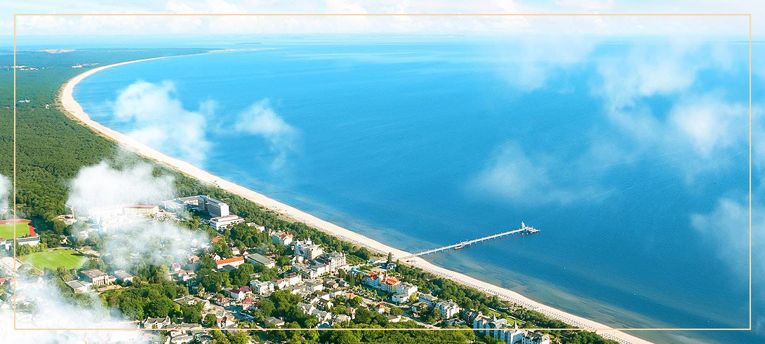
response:
[[[197,17],[197,16],[223,16],[223,17],[248,17],[248,16],[272,16],[272,17],[744,17],[750,13],[19,13],[20,16],[148,16],[148,17]]]

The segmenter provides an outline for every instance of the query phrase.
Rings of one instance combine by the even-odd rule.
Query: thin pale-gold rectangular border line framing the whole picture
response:
[[[16,220],[16,20],[18,17],[31,16],[108,16],[108,17],[197,17],[197,16],[220,16],[220,17],[746,17],[749,21],[749,326],[742,328],[567,328],[567,329],[549,329],[549,328],[530,328],[529,330],[546,331],[750,331],[752,329],[752,15],[751,13],[409,13],[409,14],[389,14],[389,13],[24,13],[13,15],[13,219]],[[14,227],[14,238],[16,236],[16,227]],[[16,269],[16,248],[13,250],[13,264]],[[16,326],[16,276],[14,271],[13,279],[13,329],[14,330],[37,330],[37,331],[60,331],[60,330],[80,330],[80,331],[158,331],[161,329],[140,329],[140,328],[20,328]],[[192,328],[192,330],[214,330],[206,327]],[[260,329],[260,328],[236,328],[236,329],[218,329],[222,331],[466,331],[469,329]],[[475,330],[475,329],[474,329]]]

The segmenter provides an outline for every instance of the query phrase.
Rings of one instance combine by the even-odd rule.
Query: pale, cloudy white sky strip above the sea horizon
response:
[[[640,5],[636,5],[640,4]],[[14,14],[57,13],[765,13],[765,2],[679,0],[628,2],[617,0],[545,1],[41,1],[11,2],[0,9],[0,31],[13,33]],[[753,33],[765,30],[753,20]],[[748,31],[746,17],[19,17],[18,34],[280,34],[280,33],[423,33],[503,32],[544,34],[562,28],[581,34],[722,34]]]

